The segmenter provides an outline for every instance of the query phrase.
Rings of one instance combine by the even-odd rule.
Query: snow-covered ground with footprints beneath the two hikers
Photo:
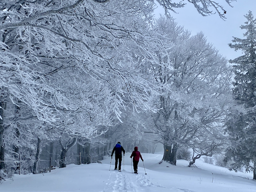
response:
[[[233,172],[197,160],[177,160],[177,166],[158,164],[162,154],[142,154],[138,174],[132,174],[131,153],[126,153],[122,172],[110,169],[110,157],[102,164],[70,164],[44,174],[14,175],[1,181],[0,192],[256,192],[252,173]]]

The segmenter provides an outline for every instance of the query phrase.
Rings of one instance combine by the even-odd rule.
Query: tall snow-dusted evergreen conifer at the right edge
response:
[[[242,50],[244,55],[231,60],[234,67],[234,97],[246,110],[232,113],[227,123],[229,134],[233,137],[233,146],[227,154],[234,160],[232,168],[254,170],[256,179],[256,19],[251,11],[245,15],[246,22],[240,26],[245,29],[244,39],[233,38],[229,46]],[[254,165],[252,165],[254,164]]]

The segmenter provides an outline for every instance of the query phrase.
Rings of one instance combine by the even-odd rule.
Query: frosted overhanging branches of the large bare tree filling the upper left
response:
[[[158,2],[166,13],[184,6]],[[203,15],[216,8],[223,16],[213,1],[191,3]],[[28,111],[20,118],[85,138],[109,125],[111,114],[120,119],[126,103],[150,109],[155,85],[137,66],[141,59],[156,63],[150,49],[162,46],[150,30],[153,10],[153,0],[2,0],[0,146],[9,125],[6,96]]]

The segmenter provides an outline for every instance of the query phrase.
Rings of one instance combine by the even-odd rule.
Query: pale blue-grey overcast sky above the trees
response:
[[[232,37],[244,38],[243,34],[246,30],[242,30],[240,26],[246,22],[245,14],[251,10],[256,18],[256,0],[237,0],[232,2],[230,7],[224,0],[218,0],[224,10],[226,10],[226,20],[222,20],[218,14],[210,16],[200,15],[194,6],[186,2],[184,8],[177,8],[178,14],[171,12],[172,17],[175,18],[179,25],[190,30],[192,34],[202,31],[206,36],[208,42],[212,43],[219,53],[226,57],[228,60],[237,58],[242,55],[241,51],[235,52],[228,46],[232,42]],[[164,14],[162,8],[156,9],[156,17],[159,14]]]

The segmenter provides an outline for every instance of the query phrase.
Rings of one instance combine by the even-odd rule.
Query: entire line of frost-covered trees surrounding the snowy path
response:
[[[230,5],[233,0],[226,0]],[[234,170],[254,168],[255,20],[246,39],[230,44],[244,56],[228,63],[202,32],[191,35],[170,16],[184,3],[35,0],[0,3],[0,170],[6,160],[34,162],[42,146],[58,142],[58,165],[70,148],[164,145],[176,165],[180,149],[225,154]],[[190,2],[190,1],[188,1]],[[225,18],[220,4],[192,2],[203,16]],[[150,149],[149,151],[154,151]],[[87,162],[87,160],[85,160]],[[254,174],[256,179],[256,174]]]

